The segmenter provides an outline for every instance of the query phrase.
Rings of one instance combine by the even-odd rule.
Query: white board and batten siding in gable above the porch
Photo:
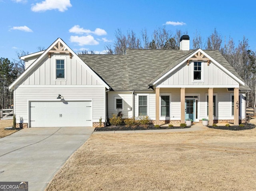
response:
[[[202,82],[194,81],[194,63],[182,64],[157,85],[238,85],[234,79],[228,76],[213,63],[207,65],[202,62]]]

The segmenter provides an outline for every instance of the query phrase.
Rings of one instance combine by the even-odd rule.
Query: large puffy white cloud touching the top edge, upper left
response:
[[[45,0],[36,5],[32,5],[31,10],[33,12],[44,12],[58,9],[60,12],[64,12],[68,10],[68,7],[72,7],[70,0]]]

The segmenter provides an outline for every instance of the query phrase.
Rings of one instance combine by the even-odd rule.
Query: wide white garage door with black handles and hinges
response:
[[[92,126],[91,101],[31,101],[31,127]]]

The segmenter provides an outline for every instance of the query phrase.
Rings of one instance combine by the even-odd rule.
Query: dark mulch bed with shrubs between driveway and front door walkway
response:
[[[160,126],[160,128],[156,128],[154,124],[149,125],[138,125],[138,126],[106,126],[95,128],[94,131],[130,131],[130,130],[154,130],[154,129],[183,129],[190,127],[168,127],[168,126]]]

